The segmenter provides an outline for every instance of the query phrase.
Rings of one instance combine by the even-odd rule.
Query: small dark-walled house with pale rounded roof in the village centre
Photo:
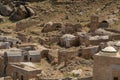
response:
[[[78,46],[78,37],[71,34],[65,34],[60,38],[60,45],[67,48],[72,46]]]

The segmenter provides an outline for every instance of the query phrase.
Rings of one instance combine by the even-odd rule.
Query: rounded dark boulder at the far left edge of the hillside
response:
[[[13,9],[8,5],[1,5],[0,6],[0,14],[3,16],[10,16]]]

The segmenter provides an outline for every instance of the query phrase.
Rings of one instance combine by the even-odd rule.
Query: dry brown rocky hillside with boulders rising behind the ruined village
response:
[[[32,33],[41,31],[41,27],[50,21],[63,24],[80,23],[85,26],[90,22],[93,14],[97,14],[100,21],[108,21],[110,28],[120,30],[120,0],[57,0],[57,2],[40,0],[27,3],[19,1],[5,3],[4,1],[0,8],[2,8],[0,9],[0,28],[2,29],[15,30],[16,23],[21,20],[28,23],[31,20],[36,21],[38,25],[34,23],[34,27],[29,27],[27,32],[23,31],[28,35],[31,31]]]

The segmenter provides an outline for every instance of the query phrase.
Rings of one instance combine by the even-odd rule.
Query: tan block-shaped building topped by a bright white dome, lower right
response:
[[[120,80],[120,52],[112,46],[94,55],[93,80]]]

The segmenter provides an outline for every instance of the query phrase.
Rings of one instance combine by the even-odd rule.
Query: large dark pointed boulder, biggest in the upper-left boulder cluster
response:
[[[14,10],[14,12],[12,13],[9,19],[12,21],[18,21],[18,20],[25,19],[27,17],[28,17],[27,10],[23,5],[20,5]]]

